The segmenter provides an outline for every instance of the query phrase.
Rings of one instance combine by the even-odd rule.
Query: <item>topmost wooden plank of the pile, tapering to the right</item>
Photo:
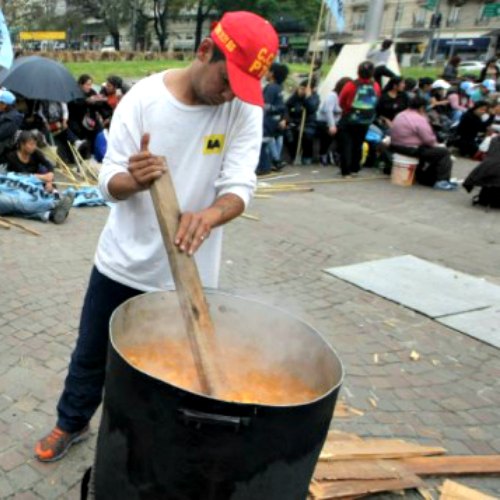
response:
[[[438,446],[421,446],[399,439],[364,439],[362,441],[335,442],[327,439],[320,460],[354,460],[360,458],[410,458],[442,455]]]

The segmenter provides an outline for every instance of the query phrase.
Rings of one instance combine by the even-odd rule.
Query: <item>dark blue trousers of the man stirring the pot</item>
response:
[[[95,267],[83,303],[80,331],[71,356],[64,391],[57,405],[57,425],[67,432],[83,429],[102,400],[109,320],[123,302],[139,290],[117,283]]]

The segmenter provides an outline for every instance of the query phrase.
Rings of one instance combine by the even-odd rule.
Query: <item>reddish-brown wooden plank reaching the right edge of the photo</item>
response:
[[[500,455],[416,457],[400,463],[419,476],[500,474]]]

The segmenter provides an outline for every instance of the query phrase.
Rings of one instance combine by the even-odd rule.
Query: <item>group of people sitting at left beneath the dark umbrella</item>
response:
[[[59,193],[54,165],[42,151],[53,146],[68,164],[75,163],[75,155],[102,161],[111,118],[127,89],[114,75],[99,91],[93,84],[90,75],[81,75],[82,95],[69,103],[0,90],[0,215],[65,221],[74,192]]]

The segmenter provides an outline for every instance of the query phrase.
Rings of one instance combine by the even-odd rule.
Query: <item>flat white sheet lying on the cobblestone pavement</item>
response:
[[[325,269],[500,349],[500,286],[413,255]]]

